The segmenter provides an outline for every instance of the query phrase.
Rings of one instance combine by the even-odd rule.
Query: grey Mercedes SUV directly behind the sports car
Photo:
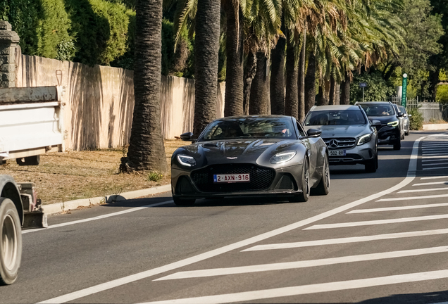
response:
[[[380,126],[375,120],[373,125]],[[378,169],[378,133],[361,106],[314,106],[304,128],[322,130],[330,165],[363,164],[367,172]]]

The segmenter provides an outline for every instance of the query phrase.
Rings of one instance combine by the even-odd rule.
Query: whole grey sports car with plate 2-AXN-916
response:
[[[211,122],[189,146],[171,158],[176,205],[198,198],[273,196],[291,202],[326,195],[328,149],[321,131],[282,115],[248,115]],[[191,141],[191,132],[181,139]]]

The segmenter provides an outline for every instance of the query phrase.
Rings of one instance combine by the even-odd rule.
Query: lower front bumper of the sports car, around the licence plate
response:
[[[216,184],[214,174],[249,172],[251,182]],[[258,171],[257,171],[258,170]],[[264,170],[264,171],[263,171]],[[292,197],[301,193],[302,165],[273,169],[251,164],[209,165],[197,170],[171,169],[171,191],[173,197],[185,199],[275,196]],[[263,176],[257,177],[257,172]],[[266,173],[267,172],[267,173]],[[269,173],[270,172],[270,173]]]

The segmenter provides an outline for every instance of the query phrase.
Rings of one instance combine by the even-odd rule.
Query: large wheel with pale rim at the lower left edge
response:
[[[9,198],[0,198],[0,237],[0,284],[13,284],[22,258],[22,228]]]

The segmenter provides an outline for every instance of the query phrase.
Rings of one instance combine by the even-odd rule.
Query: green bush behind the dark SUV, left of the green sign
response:
[[[367,87],[364,88],[364,101],[386,101],[389,96],[395,94],[393,85],[383,80],[380,72],[363,73],[354,75],[353,82],[351,82],[351,103],[363,100],[363,91],[359,87],[361,82],[366,82],[367,84]]]

